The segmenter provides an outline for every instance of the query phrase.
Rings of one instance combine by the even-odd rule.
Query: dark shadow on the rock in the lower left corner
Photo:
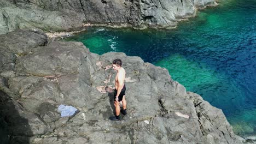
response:
[[[28,119],[19,114],[18,109],[22,109],[21,107],[18,102],[11,100],[6,93],[0,91],[0,141],[2,144],[30,143],[29,136],[33,133]]]

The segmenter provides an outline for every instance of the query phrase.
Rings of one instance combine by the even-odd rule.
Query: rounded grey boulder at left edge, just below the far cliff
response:
[[[16,56],[26,55],[47,43],[47,36],[37,29],[0,35],[0,72],[13,70]]]

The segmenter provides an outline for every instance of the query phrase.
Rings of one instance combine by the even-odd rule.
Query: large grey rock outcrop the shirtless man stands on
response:
[[[11,40],[15,38],[14,40]],[[20,38],[20,39],[19,39]],[[38,31],[0,35],[4,143],[242,143],[222,110],[187,92],[165,68],[124,53],[96,55]],[[113,116],[115,58],[126,70],[127,115]],[[57,106],[80,110],[60,117]],[[10,137],[8,137],[8,135]]]

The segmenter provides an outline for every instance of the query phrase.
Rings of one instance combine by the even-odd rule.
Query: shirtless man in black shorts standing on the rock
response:
[[[126,100],[125,100],[125,70],[122,68],[121,59],[115,59],[112,63],[113,69],[117,71],[115,76],[115,93],[114,93],[114,105],[115,105],[115,116],[110,117],[112,121],[120,120],[120,112],[126,115]],[[123,103],[123,110],[120,110],[120,101]]]

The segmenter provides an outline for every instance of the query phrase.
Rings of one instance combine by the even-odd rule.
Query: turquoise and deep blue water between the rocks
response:
[[[90,27],[66,40],[91,52],[125,52],[169,70],[172,79],[223,110],[236,134],[256,134],[256,1],[200,10],[176,29]]]

